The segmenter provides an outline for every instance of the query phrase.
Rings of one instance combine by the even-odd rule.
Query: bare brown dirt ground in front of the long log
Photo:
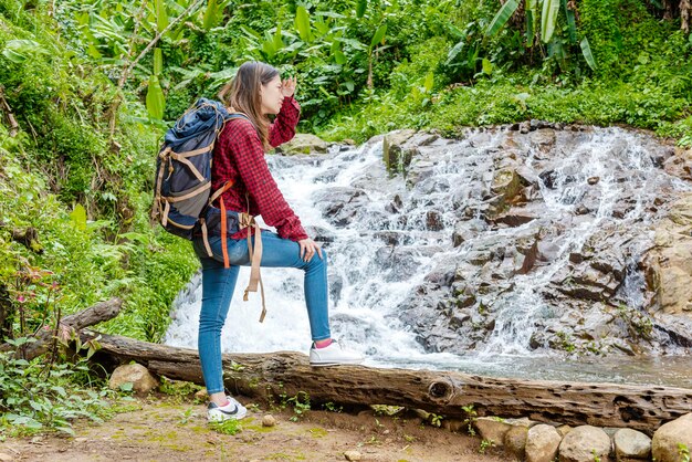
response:
[[[249,408],[242,430],[224,434],[206,420],[206,408],[179,397],[149,397],[138,408],[104,423],[77,422],[75,437],[43,434],[0,442],[0,461],[345,461],[357,451],[361,461],[505,462],[513,458],[481,439],[423,423],[413,413],[389,417],[310,410],[296,419],[290,407]],[[265,414],[274,427],[263,427]]]

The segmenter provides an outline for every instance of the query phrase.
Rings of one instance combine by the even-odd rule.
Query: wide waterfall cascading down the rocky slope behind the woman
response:
[[[469,130],[462,140],[421,146],[407,176],[386,171],[378,140],[334,146],[325,155],[268,156],[287,202],[329,254],[333,335],[364,353],[367,364],[379,366],[487,371],[494,363],[507,372],[524,364],[515,355],[547,354],[531,347],[532,336],[537,323],[557,322],[562,308],[543,288],[565,271],[570,255],[590,245],[604,227],[614,225],[614,216],[617,225],[642,230],[633,239],[646,250],[653,239],[656,216],[649,210],[657,195],[661,189],[689,190],[688,183],[656,165],[654,143],[642,135],[594,128],[576,141],[559,143],[558,136],[558,146],[549,153],[526,143],[515,156],[525,176],[535,178],[536,202],[542,202],[537,219],[510,228],[479,225],[476,235],[458,246],[451,234],[460,218],[482,221],[493,172],[506,160],[506,130]],[[577,210],[584,203],[588,213]],[[549,251],[549,261],[527,274],[514,274],[511,290],[479,295],[490,301],[493,312],[490,335],[468,355],[431,353],[421,346],[420,333],[405,321],[401,307],[424,300],[416,292],[431,274],[454,269],[470,254],[494,252],[493,242],[536,230],[554,237],[551,249],[543,250]],[[628,267],[617,296],[639,308],[642,275],[636,261]],[[242,269],[222,333],[223,350],[306,353],[311,342],[302,276],[298,270],[262,270],[269,313],[260,324],[259,295],[242,302],[249,280],[249,269]],[[200,304],[197,275],[172,306],[166,344],[196,348]],[[510,359],[503,363],[503,357]]]

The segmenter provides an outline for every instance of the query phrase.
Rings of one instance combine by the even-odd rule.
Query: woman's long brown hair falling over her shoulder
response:
[[[260,135],[264,150],[269,144],[269,118],[262,114],[260,86],[270,83],[279,71],[260,61],[248,61],[238,67],[235,76],[219,92],[219,98],[233,112],[244,113]]]

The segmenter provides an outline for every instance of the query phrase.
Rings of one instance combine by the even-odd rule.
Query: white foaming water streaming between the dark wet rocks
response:
[[[501,306],[496,325],[487,342],[473,357],[451,354],[430,354],[416,342],[416,333],[403,325],[398,307],[410,292],[423,282],[423,277],[441,261],[454,260],[474,244],[465,242],[452,246],[451,230],[458,221],[458,211],[450,206],[459,201],[458,186],[469,183],[472,178],[492,181],[493,151],[497,151],[500,134],[474,134],[459,143],[434,150],[433,175],[412,188],[406,187],[400,176],[389,178],[382,165],[381,143],[332,153],[324,156],[281,157],[268,156],[270,168],[287,202],[306,228],[318,229],[319,235],[329,237],[326,245],[329,253],[329,283],[340,290],[333,291],[329,312],[333,335],[344,339],[349,347],[363,351],[369,365],[406,366],[426,368],[452,368],[492,371],[496,367],[506,371],[508,364],[521,367],[514,355],[528,354],[528,339],[536,317],[554,316],[554,307],[538,295],[536,287],[547,285],[551,277],[568,262],[569,253],[578,250],[608,220],[615,199],[625,193],[618,171],[638,171],[630,178],[636,185],[630,198],[633,207],[623,220],[646,221],[644,209],[652,201],[656,190],[649,181],[665,174],[652,165],[647,149],[641,146],[639,135],[620,129],[596,129],[584,144],[572,153],[563,153],[563,160],[555,169],[552,185],[539,181],[539,195],[545,203],[542,219],[558,221],[574,212],[579,198],[589,188],[588,179],[598,177],[600,202],[598,210],[588,219],[575,222],[565,230],[554,250],[557,255],[549,265],[536,267],[526,275],[514,277],[514,288],[497,301]],[[469,149],[473,148],[473,155]],[[431,150],[431,151],[432,151]],[[460,155],[460,153],[464,155]],[[536,162],[532,153],[525,166]],[[495,159],[496,160],[496,159]],[[657,177],[657,178],[654,178]],[[665,179],[672,189],[686,189],[680,180]],[[363,188],[367,199],[358,208],[357,219],[343,227],[333,224],[315,206],[315,198],[338,193],[339,188]],[[593,187],[593,186],[591,186]],[[463,200],[482,202],[481,191],[465,190]],[[653,195],[653,196],[652,196]],[[392,198],[400,198],[397,212],[387,210]],[[444,230],[429,231],[427,214],[433,208],[440,212]],[[401,221],[406,217],[406,222]],[[479,239],[491,234],[521,233],[526,223],[517,228],[499,229],[482,233]],[[389,252],[379,233],[390,231],[403,233],[412,249],[398,267],[384,269],[378,263],[378,252]],[[651,239],[649,237],[648,239]],[[222,347],[230,351],[307,351],[310,329],[303,296],[303,272],[285,269],[262,269],[269,313],[264,323],[258,322],[261,304],[259,294],[251,294],[250,302],[242,302],[248,284],[249,269],[242,269],[226,327]],[[641,275],[628,275],[621,292],[640,304],[639,292],[633,287],[641,284]],[[172,346],[197,347],[198,316],[201,304],[199,274],[180,293],[172,308],[172,322],[165,343]],[[511,355],[511,356],[503,356]],[[535,356],[535,353],[533,353]],[[493,361],[489,361],[492,357]],[[503,357],[506,360],[503,360]]]

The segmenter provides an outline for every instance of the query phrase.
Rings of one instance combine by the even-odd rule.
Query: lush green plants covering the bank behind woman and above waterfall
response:
[[[300,128],[329,140],[538,118],[625,124],[692,145],[692,39],[658,2],[577,1],[578,36],[560,15],[547,44],[521,14],[486,36],[496,0],[141,4],[0,0],[0,85],[19,124],[11,136],[2,109],[0,301],[14,332],[20,308],[27,333],[57,307],[119,296],[124,313],[99,328],[161,338],[198,263],[187,242],[149,223],[155,153],[166,126],[249,59],[297,75]],[[167,24],[158,51],[118,87]],[[11,239],[27,228],[38,240]]]

